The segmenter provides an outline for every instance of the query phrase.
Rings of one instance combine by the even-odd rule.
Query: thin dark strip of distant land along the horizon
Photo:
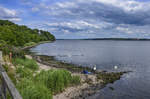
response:
[[[150,41],[148,38],[87,38],[87,39],[56,39],[56,40],[120,40],[120,41]]]

